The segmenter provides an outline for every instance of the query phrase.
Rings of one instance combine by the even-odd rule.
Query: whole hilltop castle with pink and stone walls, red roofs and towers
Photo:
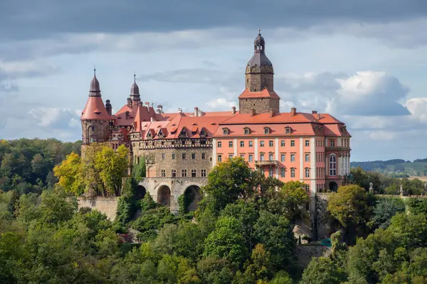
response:
[[[176,211],[178,197],[191,194],[195,209],[199,189],[209,170],[231,157],[244,158],[251,168],[283,182],[305,182],[311,196],[337,190],[350,171],[350,134],[330,114],[280,112],[274,90],[273,64],[265,55],[265,40],[258,32],[252,58],[246,65],[246,88],[238,97],[238,110],[165,114],[143,103],[134,80],[127,104],[112,114],[110,100],[102,101],[94,75],[88,102],[82,111],[83,148],[93,142],[125,144],[132,163],[146,163],[146,178],[139,189]]]

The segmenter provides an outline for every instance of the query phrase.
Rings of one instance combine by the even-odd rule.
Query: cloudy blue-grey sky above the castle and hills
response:
[[[427,158],[426,0],[0,1],[0,138],[81,138],[102,98],[231,110],[258,28],[281,111],[347,124],[352,160]]]

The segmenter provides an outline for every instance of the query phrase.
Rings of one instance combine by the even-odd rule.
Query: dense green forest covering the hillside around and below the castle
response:
[[[38,148],[43,159],[52,157],[48,142],[35,143],[45,145]],[[150,195],[140,197],[131,177],[120,192],[116,219],[109,220],[96,210],[78,209],[75,195],[87,192],[85,175],[100,183],[98,194],[108,194],[107,182],[114,185],[115,173],[102,172],[108,167],[99,165],[105,160],[121,163],[122,155],[101,148],[97,155],[88,155],[92,168],[81,170],[77,159],[70,172],[68,162],[78,153],[72,146],[52,143],[62,149],[56,155],[64,156],[46,168],[44,180],[33,168],[19,172],[15,167],[10,173],[28,173],[22,179],[27,187],[19,182],[0,187],[1,283],[427,281],[426,199],[374,195],[369,192],[374,178],[374,187],[382,190],[398,182],[378,173],[354,169],[352,184],[327,193],[325,222],[333,233],[332,248],[302,269],[297,247],[320,245],[302,244],[292,232],[298,220],[307,219],[309,195],[302,182],[265,178],[241,158],[233,158],[211,170],[195,212],[186,210],[191,200],[180,198],[181,209],[172,214]],[[31,143],[9,141],[0,155],[19,158],[18,145],[33,149]],[[33,155],[26,156],[30,161],[38,154],[28,153]],[[114,156],[105,159],[109,155]],[[3,159],[1,168],[6,169]],[[47,175],[53,175],[51,183]]]

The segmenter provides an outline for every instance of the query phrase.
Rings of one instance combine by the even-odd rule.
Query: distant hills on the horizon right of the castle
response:
[[[372,160],[367,162],[352,162],[352,168],[361,167],[364,170],[394,175],[399,177],[427,176],[427,158],[410,160]]]

